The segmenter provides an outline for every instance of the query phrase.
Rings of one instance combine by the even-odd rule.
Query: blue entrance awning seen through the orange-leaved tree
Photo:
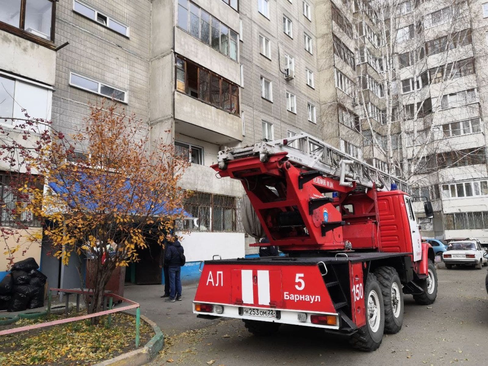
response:
[[[82,183],[75,183],[74,184],[74,192],[71,192],[71,194],[69,194],[70,192],[68,191],[68,189],[66,187],[60,186],[54,182],[48,183],[49,188],[51,188],[54,193],[64,194],[63,199],[65,199],[66,203],[68,203],[69,206],[74,207],[74,203],[72,202],[72,200],[76,197],[76,199],[79,203],[83,204],[82,201],[85,200],[84,205],[86,206],[86,208],[88,210],[96,211],[98,209],[98,204],[90,201],[87,198],[84,198],[83,197],[84,195],[81,194],[81,190],[86,188],[90,184],[93,184],[93,182],[89,182],[88,178],[85,178],[82,181]],[[127,192],[132,192],[132,190],[133,190],[128,181],[126,182],[126,189],[127,189]],[[135,197],[135,196],[131,196],[131,198],[132,198],[132,201],[137,200],[137,197]],[[71,201],[71,203],[70,203],[70,201]],[[186,212],[183,209],[183,207],[173,208],[173,209],[168,211],[165,208],[164,203],[158,205],[158,207],[153,208],[152,210],[153,210],[153,214],[155,216],[181,215],[181,214],[183,214],[184,219],[195,219],[192,215],[190,215],[188,212]]]

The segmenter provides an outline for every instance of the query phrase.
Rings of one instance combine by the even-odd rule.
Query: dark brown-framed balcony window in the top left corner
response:
[[[21,4],[24,5],[21,5]],[[2,0],[0,23],[20,28],[30,35],[54,41],[55,1],[52,0]]]

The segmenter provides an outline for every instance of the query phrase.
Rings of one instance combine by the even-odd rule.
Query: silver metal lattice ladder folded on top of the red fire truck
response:
[[[270,155],[286,151],[290,162],[308,169],[320,171],[323,176],[340,179],[341,182],[356,182],[361,188],[390,190],[391,184],[410,193],[408,183],[367,164],[309,134],[302,133],[287,139],[257,142],[254,145],[225,148],[219,152],[219,168],[225,169],[226,162],[251,156],[258,156],[266,162]]]

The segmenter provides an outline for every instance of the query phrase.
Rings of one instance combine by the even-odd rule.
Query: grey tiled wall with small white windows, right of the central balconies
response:
[[[302,131],[320,136],[314,2],[312,21],[303,15],[302,0],[269,1],[270,19],[258,12],[257,1],[241,1],[240,17],[243,21],[243,41],[240,42],[240,61],[244,65],[244,87],[241,89],[241,109],[244,111],[244,144],[262,139],[262,120],[274,124],[275,139],[285,138],[287,130]],[[283,32],[283,15],[292,20],[293,39]],[[312,37],[313,55],[305,50],[304,31]],[[259,35],[271,42],[271,60],[260,54]],[[295,59],[295,79],[285,81],[285,53]],[[280,58],[280,61],[279,61]],[[306,85],[305,67],[314,72],[315,89]],[[261,98],[261,77],[273,82],[273,102]],[[286,92],[296,96],[294,114],[286,110]],[[317,124],[308,121],[307,102],[316,106]]]

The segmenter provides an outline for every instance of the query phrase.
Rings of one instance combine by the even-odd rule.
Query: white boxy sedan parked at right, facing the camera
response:
[[[453,264],[472,265],[481,269],[482,265],[488,265],[488,259],[484,257],[486,250],[477,240],[451,242],[442,254],[442,259],[447,269],[451,269]]]

